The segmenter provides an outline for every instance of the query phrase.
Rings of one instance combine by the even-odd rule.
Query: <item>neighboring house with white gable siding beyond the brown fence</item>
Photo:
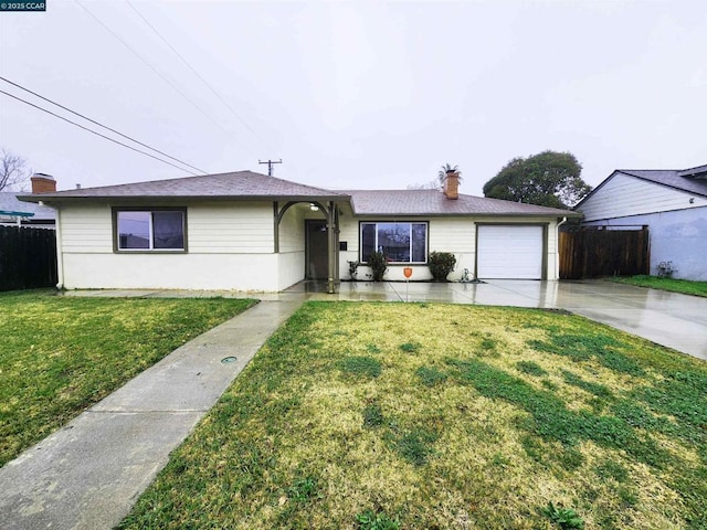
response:
[[[616,170],[574,210],[583,225],[647,225],[651,274],[707,280],[707,166],[685,170]]]

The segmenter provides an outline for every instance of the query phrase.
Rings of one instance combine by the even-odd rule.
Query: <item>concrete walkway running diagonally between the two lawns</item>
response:
[[[261,301],[207,331],[6,464],[0,528],[118,524],[169,453],[306,298]]]

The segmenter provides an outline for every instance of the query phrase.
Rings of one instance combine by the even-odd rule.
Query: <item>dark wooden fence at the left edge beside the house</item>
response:
[[[55,231],[0,225],[0,290],[54,287],[56,282]]]

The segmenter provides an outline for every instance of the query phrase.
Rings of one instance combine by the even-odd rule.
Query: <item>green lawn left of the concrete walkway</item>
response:
[[[0,465],[253,303],[0,294]]]

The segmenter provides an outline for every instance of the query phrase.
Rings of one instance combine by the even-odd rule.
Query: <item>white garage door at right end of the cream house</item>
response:
[[[482,279],[541,279],[542,226],[482,225],[476,259]]]

